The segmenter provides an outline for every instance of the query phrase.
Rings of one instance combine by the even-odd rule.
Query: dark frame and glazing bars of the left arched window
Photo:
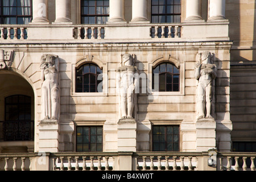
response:
[[[93,65],[93,66],[95,66],[96,67],[96,73],[92,73],[92,72],[89,72],[89,73],[84,73],[84,67],[86,66],[86,65],[89,65],[89,67],[90,67],[90,65]],[[82,68],[82,92],[77,92],[77,71],[79,70],[79,69],[81,69]],[[95,64],[95,63],[85,63],[85,64],[82,64],[80,67],[78,67],[78,68],[76,68],[75,69],[75,93],[102,93],[102,92],[104,92],[104,88],[102,88],[102,90],[101,90],[101,92],[98,92],[98,89],[97,89],[97,87],[98,87],[98,84],[100,84],[101,82],[102,82],[102,84],[103,84],[103,77],[102,77],[102,80],[100,80],[100,82],[98,82],[99,80],[97,80],[98,79],[98,76],[100,75],[100,74],[97,74],[97,69],[100,69],[101,70],[101,73],[100,74],[103,74],[103,69],[102,68],[100,68],[97,64]],[[88,74],[89,75],[89,92],[84,92],[84,76],[86,75],[86,74]],[[90,86],[92,85],[92,84],[90,84],[90,76],[91,75],[94,75],[95,76],[95,81],[96,81],[96,84],[95,84],[95,86],[96,86],[96,92],[90,92]],[[102,85],[102,87],[103,87],[103,85]]]

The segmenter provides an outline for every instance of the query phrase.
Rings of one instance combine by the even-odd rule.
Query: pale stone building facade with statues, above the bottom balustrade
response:
[[[256,150],[254,1],[11,2],[2,153]]]

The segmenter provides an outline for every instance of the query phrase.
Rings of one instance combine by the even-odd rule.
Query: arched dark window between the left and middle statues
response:
[[[85,64],[76,69],[76,92],[102,92],[102,69],[96,64]]]

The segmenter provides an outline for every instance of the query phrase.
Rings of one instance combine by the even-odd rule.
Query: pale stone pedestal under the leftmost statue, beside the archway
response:
[[[55,119],[39,123],[39,152],[59,152],[59,123]]]

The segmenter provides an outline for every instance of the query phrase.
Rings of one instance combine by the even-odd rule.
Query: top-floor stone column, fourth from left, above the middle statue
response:
[[[133,0],[133,13],[131,22],[148,22],[147,2],[148,0]]]

